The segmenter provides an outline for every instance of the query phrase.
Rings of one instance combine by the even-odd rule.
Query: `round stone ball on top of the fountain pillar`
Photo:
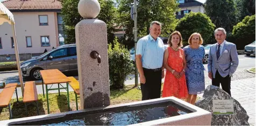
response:
[[[96,18],[101,10],[97,0],[80,0],[77,8],[79,14],[85,19]]]

